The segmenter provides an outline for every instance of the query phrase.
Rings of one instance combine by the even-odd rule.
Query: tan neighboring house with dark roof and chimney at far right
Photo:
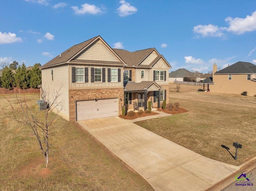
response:
[[[256,95],[256,65],[239,61],[220,71],[213,65],[213,73],[211,92]]]

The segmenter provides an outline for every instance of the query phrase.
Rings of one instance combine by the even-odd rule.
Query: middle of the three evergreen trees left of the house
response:
[[[19,65],[14,75],[14,79],[17,88],[26,89],[28,87],[28,71],[24,63],[22,63],[21,66]]]

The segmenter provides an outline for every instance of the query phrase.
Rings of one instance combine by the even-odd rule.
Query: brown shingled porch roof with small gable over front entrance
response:
[[[151,85],[155,85],[160,89],[161,87],[154,81],[141,81],[140,83],[135,83],[133,81],[128,81],[124,83],[124,91],[147,91]]]

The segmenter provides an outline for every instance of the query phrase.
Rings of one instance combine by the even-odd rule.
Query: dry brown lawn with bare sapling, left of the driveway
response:
[[[26,95],[36,104],[38,94]],[[12,103],[17,103],[10,95]],[[7,102],[0,103],[9,112]],[[51,129],[50,168],[46,169],[31,130],[0,110],[0,190],[153,190],[76,122],[58,117]]]

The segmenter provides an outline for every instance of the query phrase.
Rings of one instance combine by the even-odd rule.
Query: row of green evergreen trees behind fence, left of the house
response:
[[[42,83],[42,74],[39,67],[40,63],[36,63],[32,69],[28,70],[26,65],[18,65],[19,63],[13,61],[11,64],[1,63],[2,75],[0,77],[0,87],[9,90],[14,87],[20,89],[37,88]]]

